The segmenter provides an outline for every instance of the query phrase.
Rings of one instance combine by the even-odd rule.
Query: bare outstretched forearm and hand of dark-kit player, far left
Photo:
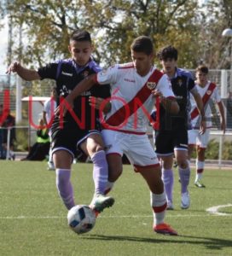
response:
[[[9,68],[6,73],[17,73],[20,78],[25,79],[26,81],[33,81],[40,79],[40,76],[38,75],[38,72],[36,70],[28,69],[25,67],[22,67],[20,65],[20,62],[14,61],[9,65]]]

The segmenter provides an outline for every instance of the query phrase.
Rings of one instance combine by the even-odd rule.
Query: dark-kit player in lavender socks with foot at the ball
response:
[[[88,75],[101,70],[91,58],[92,44],[89,32],[73,32],[68,49],[72,56],[70,59],[49,63],[45,67],[38,68],[38,71],[26,69],[19,62],[14,62],[9,66],[7,73],[16,72],[22,79],[29,81],[54,79],[58,95],[57,105],[61,107],[62,104],[65,105],[65,97],[76,84]],[[68,210],[75,206],[70,177],[77,147],[90,156],[94,165],[93,179],[96,187],[90,207],[96,212],[102,212],[105,207],[111,207],[114,200],[104,195],[108,166],[97,119],[99,112],[90,107],[91,96],[107,98],[110,96],[109,87],[100,88],[95,85],[91,90],[78,96],[74,102],[74,112],[67,113],[63,119],[55,117],[51,127],[52,154],[56,170],[56,186]]]

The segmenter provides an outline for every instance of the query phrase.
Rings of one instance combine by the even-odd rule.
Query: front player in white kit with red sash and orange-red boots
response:
[[[152,40],[145,36],[136,38],[131,44],[131,58],[131,63],[109,67],[84,79],[67,96],[67,104],[73,106],[76,96],[96,82],[111,85],[111,110],[102,122],[102,136],[109,166],[109,189],[123,172],[122,156],[125,154],[135,172],[140,172],[148,183],[154,212],[154,231],[177,235],[177,231],[164,222],[164,183],[161,179],[159,160],[148,140],[146,128],[156,96],[159,96],[165,108],[173,113],[178,113],[179,107],[166,75],[153,65]],[[66,112],[67,108],[64,108],[64,113],[60,114]],[[59,113],[59,109],[56,113]]]

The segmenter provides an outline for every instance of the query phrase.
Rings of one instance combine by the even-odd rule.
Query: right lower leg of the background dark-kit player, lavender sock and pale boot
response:
[[[175,156],[177,159],[178,172],[181,181],[181,207],[187,209],[190,205],[190,198],[188,192],[188,184],[190,178],[190,168],[188,161],[188,151],[187,149],[175,149]]]

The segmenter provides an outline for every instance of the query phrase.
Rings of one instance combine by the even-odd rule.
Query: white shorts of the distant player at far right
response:
[[[210,129],[206,129],[204,134],[200,134],[199,130],[188,131],[188,145],[197,145],[200,148],[207,148],[210,138]]]

